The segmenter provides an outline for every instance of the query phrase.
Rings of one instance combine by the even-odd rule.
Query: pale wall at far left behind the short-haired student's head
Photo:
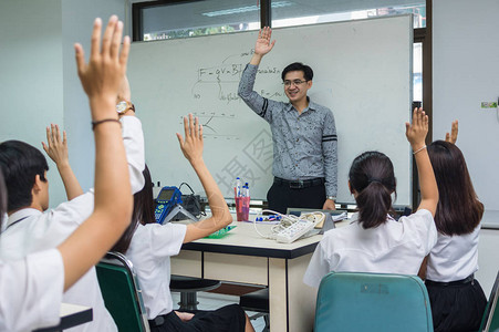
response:
[[[61,0],[2,0],[0,50],[0,142],[19,139],[43,152],[45,126],[63,124]],[[55,204],[65,195],[48,159]]]

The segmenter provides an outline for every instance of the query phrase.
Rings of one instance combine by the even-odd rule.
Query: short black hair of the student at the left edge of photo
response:
[[[6,141],[0,144],[0,168],[8,193],[7,210],[14,211],[33,201],[31,189],[37,175],[46,181],[49,165],[43,154],[24,142]]]

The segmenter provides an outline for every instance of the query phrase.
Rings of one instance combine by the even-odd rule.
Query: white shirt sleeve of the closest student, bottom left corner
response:
[[[59,324],[64,266],[56,249],[0,261],[0,331]]]

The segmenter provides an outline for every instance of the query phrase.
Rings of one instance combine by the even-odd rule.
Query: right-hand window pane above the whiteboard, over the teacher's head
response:
[[[414,14],[414,28],[426,27],[426,0],[274,0],[272,28],[403,13]]]

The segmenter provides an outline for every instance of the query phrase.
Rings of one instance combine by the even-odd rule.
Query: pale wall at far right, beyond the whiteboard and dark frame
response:
[[[433,1],[433,137],[444,137],[459,120],[457,145],[465,154],[485,226],[499,226],[499,120],[480,102],[499,97],[499,1]],[[499,230],[482,230],[477,276],[488,297],[499,261]]]

